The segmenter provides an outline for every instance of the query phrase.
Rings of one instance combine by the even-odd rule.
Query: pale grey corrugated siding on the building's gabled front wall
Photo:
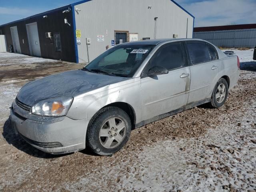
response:
[[[186,38],[187,18],[188,38],[192,38],[193,17],[170,0],[92,0],[76,8],[81,10],[75,12],[76,29],[81,30],[79,62],[88,62],[86,38],[91,39],[88,45],[90,60],[104,52],[107,45],[111,47],[114,30],[138,33],[138,40],[153,39],[154,17],[158,17],[156,38],[172,38],[173,34]],[[97,35],[104,35],[104,42],[98,42]]]

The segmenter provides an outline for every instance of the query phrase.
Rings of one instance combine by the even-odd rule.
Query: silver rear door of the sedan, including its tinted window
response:
[[[188,104],[210,98],[218,81],[220,61],[214,46],[203,41],[186,42],[190,62],[190,92]]]

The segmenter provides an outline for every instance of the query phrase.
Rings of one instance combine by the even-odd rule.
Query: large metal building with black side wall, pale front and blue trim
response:
[[[0,26],[8,48],[88,62],[128,41],[192,38],[194,16],[174,0],[82,0]]]

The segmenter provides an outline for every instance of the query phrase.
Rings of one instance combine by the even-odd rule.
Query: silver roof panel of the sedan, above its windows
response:
[[[157,45],[157,44],[160,44],[162,42],[172,42],[172,41],[174,42],[174,41],[186,41],[186,40],[201,40],[201,39],[188,39],[188,38],[151,39],[151,40],[126,42],[126,43],[123,43],[123,44],[129,44],[129,45]]]

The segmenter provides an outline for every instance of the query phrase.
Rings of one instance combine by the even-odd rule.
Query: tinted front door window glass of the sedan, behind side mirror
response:
[[[168,70],[185,66],[184,52],[181,43],[164,45],[159,48],[146,67],[161,66]]]

